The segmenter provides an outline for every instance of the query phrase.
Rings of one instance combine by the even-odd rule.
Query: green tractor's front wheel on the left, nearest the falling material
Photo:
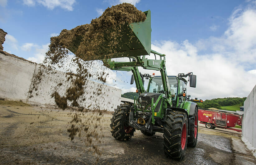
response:
[[[120,104],[115,109],[111,119],[111,133],[112,136],[120,141],[130,140],[135,129],[129,126],[130,104]]]

